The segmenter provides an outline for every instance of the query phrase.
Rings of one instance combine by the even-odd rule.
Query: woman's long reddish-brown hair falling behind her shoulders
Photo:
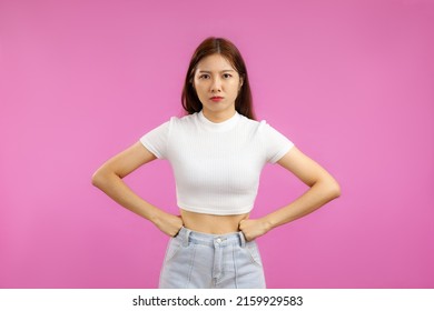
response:
[[[238,113],[255,120],[251,91],[250,84],[248,83],[246,64],[244,63],[243,57],[234,43],[224,38],[209,37],[205,39],[199,44],[199,47],[197,47],[195,53],[193,54],[183,89],[181,101],[184,109],[188,114],[193,114],[201,110],[203,104],[197,97],[193,82],[196,67],[199,61],[211,54],[220,54],[226,58],[238,72],[239,77],[243,78],[241,89],[237,99],[235,100],[235,110],[238,111]]]

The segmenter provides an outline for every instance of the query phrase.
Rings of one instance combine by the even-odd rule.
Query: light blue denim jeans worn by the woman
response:
[[[255,241],[241,232],[208,234],[181,228],[170,239],[160,289],[264,289],[265,277]]]

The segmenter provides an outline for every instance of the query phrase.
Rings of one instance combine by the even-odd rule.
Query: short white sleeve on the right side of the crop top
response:
[[[294,147],[294,143],[272,126],[267,124],[266,121],[262,121],[260,123],[264,134],[266,160],[274,164]]]

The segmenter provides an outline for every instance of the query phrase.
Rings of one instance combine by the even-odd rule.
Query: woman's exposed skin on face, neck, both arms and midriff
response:
[[[243,79],[220,54],[204,58],[197,66],[194,87],[203,103],[204,116],[213,122],[224,122],[235,114],[235,99]],[[219,102],[210,100],[218,96]],[[318,163],[293,147],[278,164],[296,175],[309,189],[295,201],[258,219],[249,214],[214,215],[180,209],[180,215],[169,214],[137,195],[122,178],[156,157],[140,142],[103,163],[92,175],[92,184],[126,209],[151,221],[160,231],[175,237],[185,225],[195,231],[224,234],[243,231],[251,241],[272,229],[302,218],[341,195],[336,180]]]

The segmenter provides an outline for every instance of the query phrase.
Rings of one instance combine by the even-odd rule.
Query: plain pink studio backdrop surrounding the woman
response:
[[[156,288],[167,238],[90,183],[180,116],[208,36],[342,197],[258,239],[269,288],[434,287],[433,1],[0,1],[0,288]],[[177,212],[170,167],[126,178]],[[254,217],[306,187],[263,172]]]

